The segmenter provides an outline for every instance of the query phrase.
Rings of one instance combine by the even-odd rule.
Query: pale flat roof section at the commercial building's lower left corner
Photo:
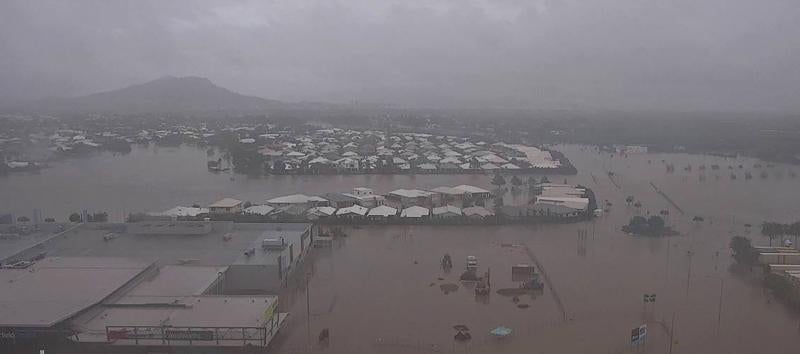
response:
[[[52,327],[100,303],[151,265],[116,257],[52,257],[26,269],[0,269],[0,326]]]

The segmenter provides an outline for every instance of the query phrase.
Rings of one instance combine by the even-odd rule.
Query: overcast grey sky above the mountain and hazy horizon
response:
[[[0,100],[163,75],[289,101],[800,112],[800,1],[0,1]]]

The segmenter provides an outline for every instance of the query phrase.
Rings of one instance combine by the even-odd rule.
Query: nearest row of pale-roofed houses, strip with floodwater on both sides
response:
[[[225,198],[207,208],[176,207],[151,215],[274,221],[483,220],[498,216],[513,220],[587,215],[589,202],[584,188],[549,183],[539,188],[537,193],[540,195],[534,201],[520,206],[489,207],[492,193],[470,185],[431,190],[396,189],[383,195],[374,193],[371,188],[358,187],[350,193],[280,196],[259,205]]]

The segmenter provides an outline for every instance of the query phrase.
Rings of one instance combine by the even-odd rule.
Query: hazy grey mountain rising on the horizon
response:
[[[26,105],[25,111],[53,113],[249,113],[282,109],[286,103],[245,96],[211,80],[165,76],[143,84],[73,98]]]

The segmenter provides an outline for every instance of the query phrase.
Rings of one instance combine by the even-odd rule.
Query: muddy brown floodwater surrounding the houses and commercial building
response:
[[[304,272],[297,272],[298,279],[285,289],[281,306],[291,316],[272,350],[627,353],[634,351],[628,344],[631,329],[646,323],[648,340],[638,348],[644,352],[667,353],[670,333],[673,353],[796,352],[800,318],[770,299],[755,277],[730,270],[728,242],[733,235],[744,235],[754,244],[767,244],[759,234],[762,221],[798,218],[800,178],[790,175],[797,168],[767,167],[763,162],[755,168],[759,162],[747,158],[620,158],[579,146],[557,149],[578,168],[578,175],[549,178],[591,187],[598,204],[613,204],[605,215],[564,225],[347,229],[347,237],[329,248],[317,248]],[[490,180],[487,175],[248,178],[209,173],[207,159],[205,151],[191,147],[148,147],[124,156],[59,162],[38,174],[0,178],[0,210],[30,213],[38,207],[45,216],[63,220],[85,208],[107,210],[121,220],[128,212],[206,204],[221,197],[261,202],[277,195],[357,186],[381,193],[462,183],[488,187]],[[674,172],[667,173],[668,163],[675,166]],[[685,170],[690,164],[692,170]],[[700,171],[700,165],[706,169]],[[712,170],[711,165],[720,168]],[[608,171],[614,172],[613,179]],[[752,179],[744,178],[746,171]],[[767,173],[764,178],[762,171]],[[731,173],[737,179],[732,180]],[[626,205],[627,196],[642,206]],[[510,192],[506,203],[521,204],[527,198],[526,192]],[[633,237],[620,231],[631,216],[661,210],[669,211],[667,224],[680,236]],[[694,216],[705,221],[692,222]],[[753,227],[746,227],[748,223]],[[450,272],[440,267],[445,253],[453,257]],[[488,298],[476,297],[474,285],[459,281],[470,255],[477,257],[480,274],[490,270]],[[511,279],[512,265],[535,261],[548,280],[541,293],[519,296],[516,302],[497,293],[519,285]],[[644,294],[656,294],[656,302],[645,304]],[[472,339],[454,341],[454,325],[469,327]],[[494,338],[489,331],[497,326],[512,328],[513,333]],[[330,333],[325,346],[318,341],[323,329]]]

